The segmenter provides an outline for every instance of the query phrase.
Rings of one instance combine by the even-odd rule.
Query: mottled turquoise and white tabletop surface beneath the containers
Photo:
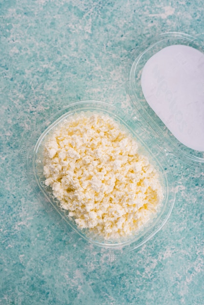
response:
[[[31,189],[20,148],[59,107],[96,99],[128,111],[125,67],[165,31],[204,38],[204,3],[0,0],[0,304],[204,305],[204,172],[172,161],[165,227],[115,262],[65,234]]]

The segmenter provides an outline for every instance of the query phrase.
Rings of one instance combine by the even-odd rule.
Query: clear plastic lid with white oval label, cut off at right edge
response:
[[[163,149],[204,165],[204,46],[182,33],[164,33],[138,47],[127,89]]]

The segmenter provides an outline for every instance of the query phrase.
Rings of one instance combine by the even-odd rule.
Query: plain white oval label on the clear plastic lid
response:
[[[204,152],[204,54],[180,44],[163,48],[145,63],[141,86],[170,132]]]

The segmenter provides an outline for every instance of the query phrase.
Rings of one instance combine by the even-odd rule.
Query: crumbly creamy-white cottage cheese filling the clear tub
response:
[[[105,114],[64,119],[44,145],[45,185],[78,228],[105,240],[141,229],[163,199],[158,173],[138,144]]]

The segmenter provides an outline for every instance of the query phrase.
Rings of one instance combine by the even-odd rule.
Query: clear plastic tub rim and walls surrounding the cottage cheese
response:
[[[52,132],[52,129],[55,128],[64,118],[68,118],[70,115],[76,113],[87,111],[108,114],[109,116],[113,117],[115,121],[122,124],[134,136],[136,141],[141,146],[141,153],[148,156],[150,162],[160,173],[160,182],[163,187],[164,195],[160,211],[157,213],[155,218],[152,218],[151,221],[135,235],[121,238],[121,240],[116,242],[105,241],[100,236],[90,234],[88,229],[78,229],[74,220],[68,216],[68,211],[61,208],[58,200],[52,195],[52,190],[49,187],[46,187],[44,184],[43,144],[46,136]],[[138,131],[138,133],[136,131]],[[124,247],[125,249],[137,248],[149,240],[163,227],[173,208],[175,199],[174,181],[172,173],[168,167],[166,153],[162,152],[162,150],[153,143],[152,147],[149,147],[149,143],[147,145],[147,142],[152,141],[151,135],[148,136],[146,133],[145,139],[143,140],[139,135],[141,132],[142,129],[140,123],[135,121],[134,118],[127,118],[122,111],[117,109],[114,105],[99,101],[82,101],[62,108],[58,113],[53,115],[52,118],[45,121],[31,141],[31,145],[27,153],[27,171],[31,184],[40,196],[41,201],[45,204],[51,204],[54,209],[58,211],[64,221],[65,226],[71,226],[80,236],[96,246],[116,249]],[[36,185],[38,185],[38,189],[36,189]]]

